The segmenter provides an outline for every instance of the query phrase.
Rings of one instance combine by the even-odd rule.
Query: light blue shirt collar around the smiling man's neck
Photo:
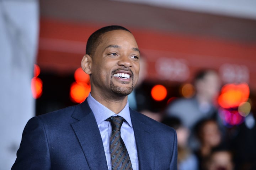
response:
[[[103,121],[105,121],[107,118],[111,116],[121,116],[123,117],[129,126],[132,127],[132,120],[130,118],[130,109],[129,109],[129,103],[126,103],[126,106],[122,109],[121,112],[118,114],[112,112],[110,109],[105,107],[103,104],[99,103],[95,98],[91,96],[91,93],[87,97],[87,102],[92,110],[92,113],[95,116],[97,124],[101,124]]]

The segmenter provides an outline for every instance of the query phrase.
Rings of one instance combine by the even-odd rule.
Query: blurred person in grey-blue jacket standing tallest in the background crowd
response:
[[[189,129],[201,119],[217,116],[215,99],[221,87],[218,73],[211,69],[198,71],[193,84],[196,90],[194,97],[178,98],[166,109],[167,115],[180,118],[182,124]]]

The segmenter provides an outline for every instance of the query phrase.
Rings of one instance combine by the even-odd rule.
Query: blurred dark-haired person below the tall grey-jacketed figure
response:
[[[199,162],[199,170],[206,169],[206,160],[214,148],[222,146],[222,135],[214,119],[203,119],[194,128],[199,148],[194,152]]]

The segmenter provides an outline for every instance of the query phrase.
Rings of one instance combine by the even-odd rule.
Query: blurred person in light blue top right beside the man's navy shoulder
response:
[[[178,170],[198,170],[197,157],[188,147],[190,130],[183,126],[181,120],[177,117],[164,117],[161,122],[176,130],[178,141]]]

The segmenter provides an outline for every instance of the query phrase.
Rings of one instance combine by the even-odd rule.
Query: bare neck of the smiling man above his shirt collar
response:
[[[127,96],[107,96],[107,94],[102,95],[94,92],[91,92],[91,96],[116,114],[121,112],[127,104]]]

